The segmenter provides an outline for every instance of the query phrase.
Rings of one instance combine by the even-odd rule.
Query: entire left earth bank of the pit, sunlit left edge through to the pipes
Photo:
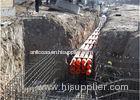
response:
[[[20,89],[21,85],[32,87],[49,84],[56,80],[66,80],[68,75],[67,54],[55,54],[55,57],[54,54],[32,55],[30,51],[77,49],[94,31],[99,22],[96,12],[85,12],[85,15],[47,12],[46,16],[23,17],[23,20],[21,18],[11,20],[12,23],[2,27],[1,30],[1,75],[5,76],[1,77],[2,95],[4,95],[5,85],[7,91],[15,82],[19,83],[17,88]],[[40,66],[35,66],[44,57],[47,59]],[[53,62],[55,65],[51,65]],[[6,79],[7,76],[9,77]],[[24,77],[24,84],[20,83],[22,79],[17,79],[17,77]]]

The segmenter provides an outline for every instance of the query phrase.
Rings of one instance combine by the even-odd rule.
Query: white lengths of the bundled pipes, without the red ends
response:
[[[76,58],[86,58],[86,59],[92,59],[93,58],[93,53],[91,53],[91,49],[93,49],[94,46],[96,46],[96,44],[97,44],[96,42],[98,40],[100,30],[103,27],[106,20],[107,20],[107,17],[105,15],[102,15],[101,18],[100,18],[100,22],[99,22],[98,27],[89,36],[89,38],[84,42],[84,44],[79,48],[80,51],[76,52],[76,55],[73,57],[72,61]],[[71,65],[71,63],[70,63],[70,65]]]

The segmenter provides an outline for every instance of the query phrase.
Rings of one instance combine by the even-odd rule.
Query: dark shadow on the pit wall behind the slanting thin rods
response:
[[[61,46],[70,47],[63,27],[53,20],[24,20],[24,32],[25,86],[50,83],[56,78],[64,80],[66,55],[30,54],[30,51],[51,51]],[[35,64],[38,65],[35,66]]]

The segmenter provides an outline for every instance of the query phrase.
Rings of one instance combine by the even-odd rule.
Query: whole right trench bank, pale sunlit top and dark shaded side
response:
[[[105,27],[101,30],[98,41],[100,57],[97,80],[108,86],[111,86],[111,83],[119,86],[125,84],[129,89],[98,91],[100,99],[139,99],[138,11],[138,6],[134,5],[112,9]]]

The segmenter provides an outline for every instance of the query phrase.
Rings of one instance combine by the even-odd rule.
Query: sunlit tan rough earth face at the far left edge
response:
[[[0,43],[0,92],[3,94],[4,86],[24,66],[23,32],[19,22],[2,27]]]

